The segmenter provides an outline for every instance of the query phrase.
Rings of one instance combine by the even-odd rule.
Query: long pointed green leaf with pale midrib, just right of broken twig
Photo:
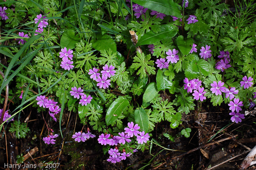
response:
[[[178,27],[175,25],[162,25],[161,31],[154,33],[152,30],[144,34],[137,42],[136,46],[153,44],[162,39],[172,38],[177,34]],[[193,41],[193,40],[192,40]],[[191,50],[191,49],[190,49]]]

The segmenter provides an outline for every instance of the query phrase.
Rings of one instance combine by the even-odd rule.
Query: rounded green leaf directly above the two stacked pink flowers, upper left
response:
[[[75,32],[67,30],[63,33],[62,37],[60,38],[60,47],[67,49],[75,48],[75,44],[79,43],[81,37],[79,35],[75,35]]]

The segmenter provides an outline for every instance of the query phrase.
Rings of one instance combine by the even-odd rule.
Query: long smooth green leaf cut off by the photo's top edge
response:
[[[133,0],[133,3],[166,15],[182,18],[181,6],[175,3],[173,0]]]

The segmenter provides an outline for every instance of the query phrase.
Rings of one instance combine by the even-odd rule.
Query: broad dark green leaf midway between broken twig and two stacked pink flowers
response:
[[[92,40],[92,47],[98,51],[111,49],[112,52],[116,52],[115,41],[107,34],[98,35],[96,40]]]

